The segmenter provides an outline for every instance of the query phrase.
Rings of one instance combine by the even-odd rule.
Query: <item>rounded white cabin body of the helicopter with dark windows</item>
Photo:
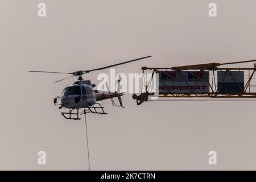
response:
[[[75,82],[76,83],[76,82]],[[61,96],[61,106],[68,109],[80,109],[96,103],[96,94],[92,86],[73,84],[67,86]]]

